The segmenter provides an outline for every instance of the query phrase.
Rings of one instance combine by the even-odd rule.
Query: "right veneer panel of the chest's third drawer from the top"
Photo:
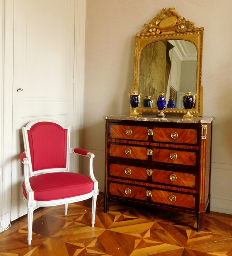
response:
[[[194,188],[196,185],[196,175],[182,172],[152,170],[152,181]]]

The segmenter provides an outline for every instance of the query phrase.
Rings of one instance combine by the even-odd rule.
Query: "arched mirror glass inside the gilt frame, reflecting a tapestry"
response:
[[[156,41],[140,53],[139,108],[156,108],[159,92],[164,92],[167,108],[184,108],[181,94],[196,93],[197,51],[185,40]]]

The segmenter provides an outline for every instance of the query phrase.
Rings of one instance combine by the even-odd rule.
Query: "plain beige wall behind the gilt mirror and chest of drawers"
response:
[[[82,146],[104,191],[104,115],[129,113],[135,34],[162,8],[205,27],[204,115],[214,116],[211,210],[232,213],[232,1],[87,0]]]

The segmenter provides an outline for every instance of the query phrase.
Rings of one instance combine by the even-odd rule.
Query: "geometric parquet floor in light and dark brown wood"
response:
[[[34,212],[32,244],[27,219],[0,233],[0,256],[232,256],[232,215],[206,214],[206,229],[196,232],[196,217],[113,201],[103,212],[97,199],[95,227],[91,200]]]

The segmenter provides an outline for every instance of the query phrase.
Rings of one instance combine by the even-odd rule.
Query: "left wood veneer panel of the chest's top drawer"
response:
[[[148,140],[147,127],[131,125],[111,125],[110,138]]]

